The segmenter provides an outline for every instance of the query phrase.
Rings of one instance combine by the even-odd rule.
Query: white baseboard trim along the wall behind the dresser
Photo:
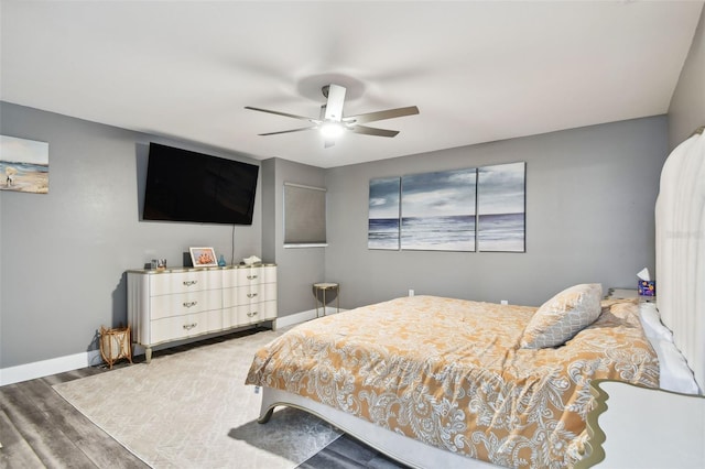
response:
[[[344,309],[340,309],[341,312]],[[334,314],[328,308],[328,315]],[[306,312],[295,313],[292,315],[276,318],[276,328],[295,326],[300,323],[305,323],[316,318],[316,310],[310,309]],[[225,332],[229,334],[231,331]],[[224,332],[220,332],[224,334]],[[220,335],[215,334],[215,335]],[[193,340],[203,340],[205,337],[194,338]],[[186,341],[184,341],[186,342]],[[176,342],[169,345],[158,346],[154,350],[162,348],[174,347]],[[144,348],[134,346],[132,355],[143,355]],[[102,363],[99,350],[89,350],[83,353],[74,353],[65,357],[52,358],[48,360],[35,361],[26,364],[18,364],[17,367],[0,368],[0,386],[7,384],[14,384],[22,381],[34,380],[37,378],[44,378],[52,374],[64,373],[66,371],[78,370],[80,368],[96,367]]]

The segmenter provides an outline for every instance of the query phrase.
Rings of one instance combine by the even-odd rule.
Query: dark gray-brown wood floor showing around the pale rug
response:
[[[176,347],[155,355],[178,353],[189,347],[194,346]],[[113,368],[124,366],[119,363]],[[104,372],[109,370],[91,367],[0,386],[0,468],[149,468],[52,388]],[[403,466],[344,435],[300,468],[394,469]]]

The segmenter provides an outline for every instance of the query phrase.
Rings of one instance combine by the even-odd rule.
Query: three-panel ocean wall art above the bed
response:
[[[525,162],[370,179],[368,248],[525,251]]]

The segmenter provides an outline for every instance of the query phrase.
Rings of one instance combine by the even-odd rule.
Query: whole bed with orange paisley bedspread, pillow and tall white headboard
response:
[[[703,137],[694,144],[699,154],[680,146],[662,174],[658,309],[581,284],[539,308],[414,296],[319,318],[256,355],[246,382],[263,388],[260,422],[300,407],[411,467],[571,467],[592,381],[659,388],[666,342],[702,392]]]

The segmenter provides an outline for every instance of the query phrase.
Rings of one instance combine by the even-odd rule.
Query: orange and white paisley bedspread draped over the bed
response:
[[[497,465],[570,467],[590,380],[657,388],[658,359],[633,302],[604,302],[565,346],[521,349],[535,309],[413,296],[348,310],[259,350],[246,382]]]

